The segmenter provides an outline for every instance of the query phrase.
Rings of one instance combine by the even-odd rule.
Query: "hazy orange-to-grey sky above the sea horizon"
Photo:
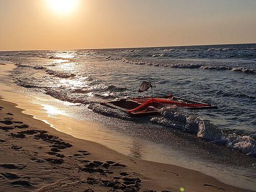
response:
[[[256,0],[0,0],[0,51],[250,43],[255,10]]]

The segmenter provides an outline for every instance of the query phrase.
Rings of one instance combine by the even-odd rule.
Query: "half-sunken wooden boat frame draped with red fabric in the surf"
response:
[[[189,110],[217,109],[208,103],[175,97],[172,94],[159,97],[135,97],[100,104],[129,113],[134,117],[158,115],[162,108],[185,108]]]

